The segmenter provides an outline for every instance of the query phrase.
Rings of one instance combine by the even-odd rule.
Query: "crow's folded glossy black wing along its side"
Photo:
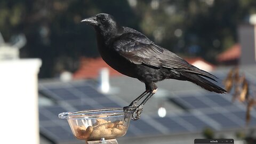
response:
[[[137,65],[144,64],[156,69],[165,67],[202,75],[212,80],[216,78],[212,74],[190,65],[187,61],[169,50],[154,44],[145,35],[135,30],[119,36],[113,43],[113,47],[125,59]]]

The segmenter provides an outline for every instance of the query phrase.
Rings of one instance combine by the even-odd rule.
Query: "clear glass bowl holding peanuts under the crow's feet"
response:
[[[59,118],[67,119],[77,139],[93,141],[125,135],[131,114],[123,108],[105,108],[60,113]]]

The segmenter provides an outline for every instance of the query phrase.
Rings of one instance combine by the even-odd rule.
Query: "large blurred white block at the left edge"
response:
[[[0,61],[0,143],[39,144],[39,59]]]

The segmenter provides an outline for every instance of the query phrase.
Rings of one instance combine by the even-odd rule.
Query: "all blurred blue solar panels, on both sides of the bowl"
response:
[[[93,108],[123,107],[128,103],[113,99],[97,91],[92,81],[67,83],[41,83],[39,93],[52,99],[54,106],[39,107],[40,133],[55,143],[77,143],[70,127],[58,114]],[[169,98],[185,109],[183,113],[168,113],[164,118],[143,114],[139,121],[132,121],[126,137],[201,132],[205,127],[214,130],[241,129],[245,126],[246,108],[231,102],[231,96],[214,93],[176,94]],[[256,126],[256,113],[252,112],[250,126]]]

